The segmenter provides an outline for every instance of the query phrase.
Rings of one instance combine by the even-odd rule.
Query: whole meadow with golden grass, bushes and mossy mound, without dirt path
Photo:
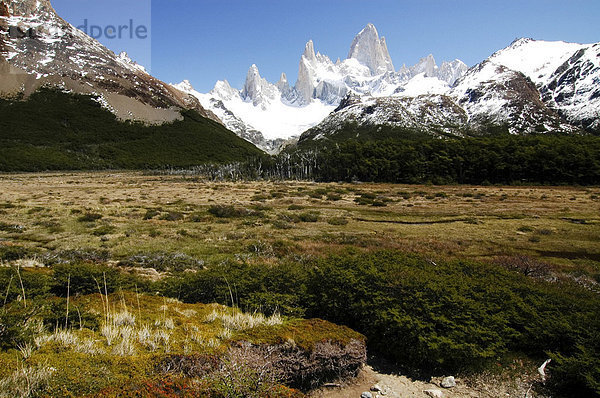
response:
[[[551,357],[539,389],[594,396],[599,242],[597,187],[1,175],[0,383],[37,369],[24,396],[302,396],[341,374],[313,361],[267,383],[228,366],[277,347],[289,367],[290,347],[331,343],[350,374],[364,338],[349,327],[414,375]],[[44,376],[66,358],[86,376]]]

